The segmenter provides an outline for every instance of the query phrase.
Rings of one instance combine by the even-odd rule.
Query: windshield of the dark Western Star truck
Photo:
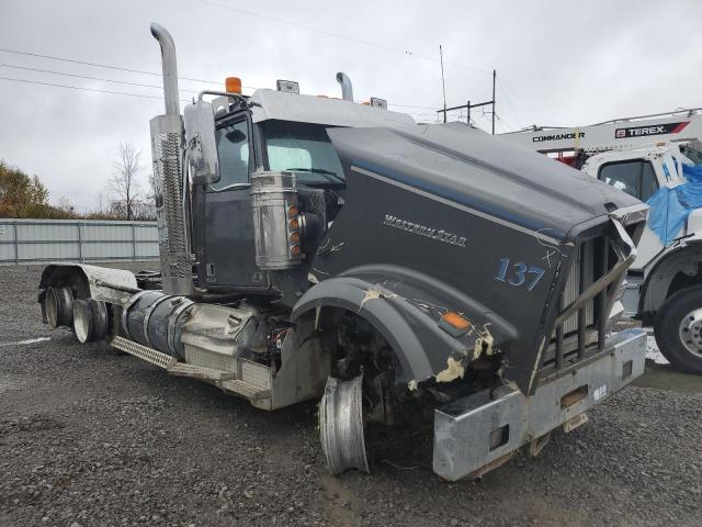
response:
[[[262,123],[269,170],[297,171],[303,183],[343,182],[343,170],[321,124]]]

